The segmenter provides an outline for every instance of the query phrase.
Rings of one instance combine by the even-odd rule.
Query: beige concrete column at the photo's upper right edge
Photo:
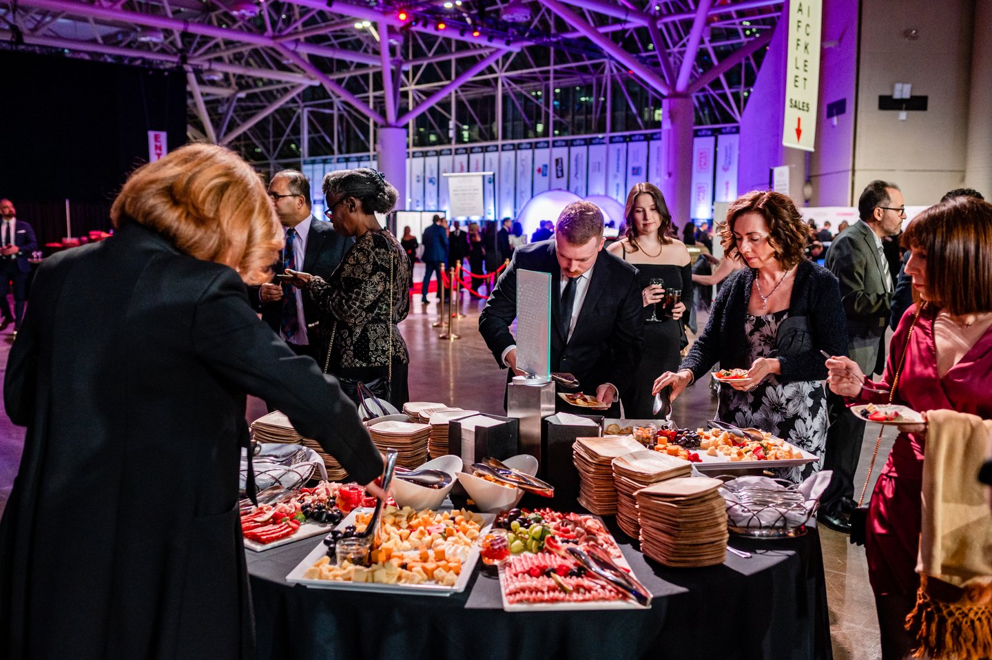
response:
[[[964,185],[992,195],[992,0],[975,0]]]

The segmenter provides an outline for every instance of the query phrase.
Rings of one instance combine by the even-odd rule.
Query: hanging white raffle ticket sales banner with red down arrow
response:
[[[782,144],[805,151],[813,150],[816,137],[822,9],[822,0],[792,0],[789,3],[789,53]]]

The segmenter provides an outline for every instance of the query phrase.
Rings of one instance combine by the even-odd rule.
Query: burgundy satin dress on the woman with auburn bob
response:
[[[992,419],[992,330],[941,378],[937,373],[933,321],[937,311],[929,306],[920,314],[910,334],[916,306],[903,317],[889,346],[885,374],[877,384],[889,389],[910,338],[902,375],[893,403],[917,411],[951,409]],[[886,403],[888,395],[862,391],[860,403]],[[926,437],[900,434],[872,491],[868,511],[868,578],[876,595],[916,594],[920,548],[921,492]],[[973,474],[961,478],[976,479]]]

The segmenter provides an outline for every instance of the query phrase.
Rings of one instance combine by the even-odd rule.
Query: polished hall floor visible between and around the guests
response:
[[[434,300],[434,294],[429,295]],[[439,401],[461,408],[499,412],[502,409],[506,373],[497,368],[477,330],[482,302],[463,295],[464,318],[454,320],[457,340],[437,338],[440,330],[432,328],[439,318],[434,303],[422,306],[414,299],[410,316],[401,325],[410,346],[410,392],[414,400]],[[700,320],[700,326],[704,320]],[[10,331],[0,333],[0,369],[5,367],[11,343]],[[707,383],[700,382],[686,390],[675,403],[674,417],[682,426],[699,425],[715,410],[715,399]],[[249,419],[265,414],[261,401],[249,402]],[[877,433],[877,431],[875,432]],[[863,483],[871,460],[875,435],[866,432],[862,448],[859,479]],[[14,427],[0,415],[0,509],[17,472],[24,430]],[[892,436],[883,441],[880,458],[888,454]],[[880,465],[879,465],[880,467]],[[878,628],[874,603],[868,586],[864,549],[851,546],[847,537],[829,529],[820,530],[826,584],[829,594],[833,654],[837,660],[874,660],[880,658]]]

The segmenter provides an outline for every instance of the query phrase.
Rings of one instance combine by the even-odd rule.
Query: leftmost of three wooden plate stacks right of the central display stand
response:
[[[629,436],[576,438],[571,458],[578,470],[578,503],[596,515],[616,513],[613,459],[642,450],[644,446]]]

